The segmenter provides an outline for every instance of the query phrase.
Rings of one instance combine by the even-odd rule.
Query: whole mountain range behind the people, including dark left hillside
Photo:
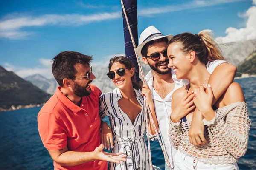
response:
[[[256,40],[231,42],[219,45],[227,61],[237,66],[237,75],[242,73],[256,74]],[[249,57],[248,57],[249,56]],[[93,80],[102,92],[116,88],[112,80],[107,77],[108,63],[93,66]],[[150,70],[148,65],[141,62],[144,74]],[[0,66],[0,111],[9,108],[23,108],[24,105],[40,105],[55,93],[58,83],[54,78],[47,79],[40,74],[20,78],[12,71],[6,71]],[[29,107],[29,106],[28,106]]]

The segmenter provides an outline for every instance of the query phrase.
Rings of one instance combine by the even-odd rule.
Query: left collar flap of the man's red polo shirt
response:
[[[75,103],[73,103],[70,99],[68,99],[62,92],[61,92],[61,87],[59,86],[56,89],[55,92],[56,96],[58,97],[58,99],[67,107],[69,108],[71,111],[73,111],[74,113],[77,113],[79,111],[82,110],[81,107],[77,106]]]

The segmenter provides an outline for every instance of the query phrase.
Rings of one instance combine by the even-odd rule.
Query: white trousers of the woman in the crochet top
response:
[[[234,164],[204,164],[177,150],[174,156],[174,170],[239,170]]]

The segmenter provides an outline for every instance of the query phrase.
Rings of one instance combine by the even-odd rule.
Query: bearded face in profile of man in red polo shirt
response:
[[[81,64],[77,64],[75,65],[76,68],[76,74],[74,77],[76,76],[87,76],[87,73],[90,70],[89,66],[84,66]],[[89,96],[91,94],[91,88],[89,86],[89,84],[93,81],[93,79],[95,79],[96,77],[94,76],[94,74],[91,72],[90,73],[90,79],[87,79],[87,77],[77,77],[73,79],[74,82],[74,86],[73,86],[73,93],[76,96],[79,97],[84,97],[84,96]]]

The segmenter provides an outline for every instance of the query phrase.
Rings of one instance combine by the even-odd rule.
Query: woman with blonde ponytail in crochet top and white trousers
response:
[[[168,43],[169,67],[177,79],[190,84],[173,94],[169,139],[178,150],[175,170],[238,170],[236,161],[247,150],[250,119],[241,86],[233,82],[212,107],[208,85],[208,61],[224,60],[210,30],[198,35],[183,33]],[[221,82],[219,82],[221,83]],[[207,88],[207,92],[204,90]],[[194,146],[189,138],[192,114],[197,108],[204,116],[207,144]]]

